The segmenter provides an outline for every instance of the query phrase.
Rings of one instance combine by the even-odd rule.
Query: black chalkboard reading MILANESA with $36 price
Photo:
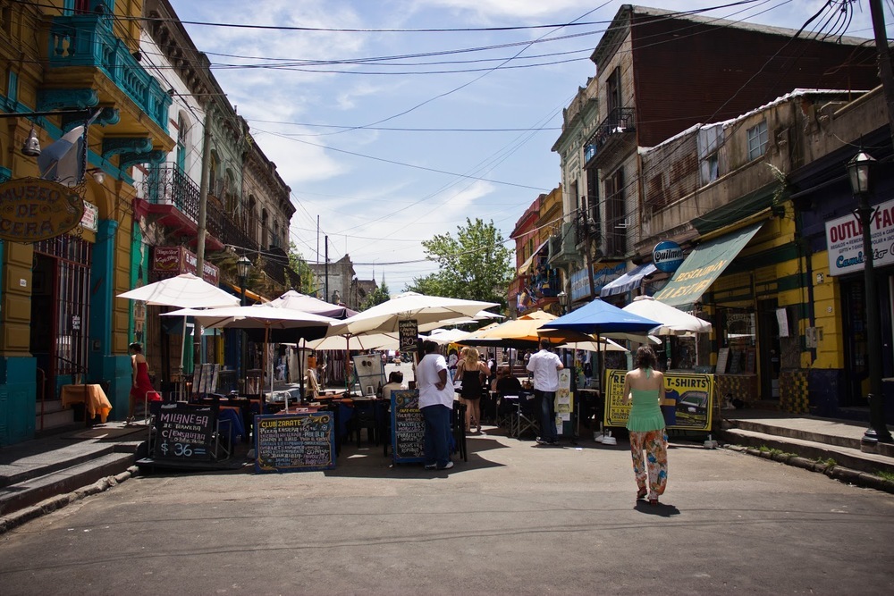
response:
[[[164,403],[156,417],[156,459],[211,461],[217,415],[211,407]]]

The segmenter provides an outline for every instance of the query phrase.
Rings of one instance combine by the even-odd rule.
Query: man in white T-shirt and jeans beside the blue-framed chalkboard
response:
[[[437,353],[438,345],[427,340],[422,344],[426,356],[416,366],[419,388],[419,409],[426,421],[426,470],[449,470],[450,416],[453,409],[453,385],[447,375],[447,361]]]

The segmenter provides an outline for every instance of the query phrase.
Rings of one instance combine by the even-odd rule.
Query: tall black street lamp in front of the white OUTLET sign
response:
[[[869,364],[869,424],[863,435],[863,442],[874,445],[879,441],[894,441],[885,424],[885,405],[881,395],[881,323],[879,300],[875,290],[875,267],[873,264],[873,207],[869,205],[872,189],[871,172],[875,164],[872,155],[861,151],[848,162],[850,187],[857,198],[856,215],[863,227],[863,274],[866,300],[866,361]]]

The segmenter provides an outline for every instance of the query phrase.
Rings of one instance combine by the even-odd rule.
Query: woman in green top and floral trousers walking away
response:
[[[656,362],[653,349],[641,346],[637,349],[637,367],[624,377],[624,399],[628,404],[633,402],[627,430],[630,433],[633,473],[637,477],[637,499],[645,498],[645,483],[648,480],[650,505],[658,505],[658,496],[664,493],[668,482],[668,439],[661,408],[664,375],[654,370]]]

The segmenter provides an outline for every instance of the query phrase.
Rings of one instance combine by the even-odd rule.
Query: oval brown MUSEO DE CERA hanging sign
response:
[[[58,182],[22,178],[0,184],[0,239],[38,242],[78,226],[84,200]]]

